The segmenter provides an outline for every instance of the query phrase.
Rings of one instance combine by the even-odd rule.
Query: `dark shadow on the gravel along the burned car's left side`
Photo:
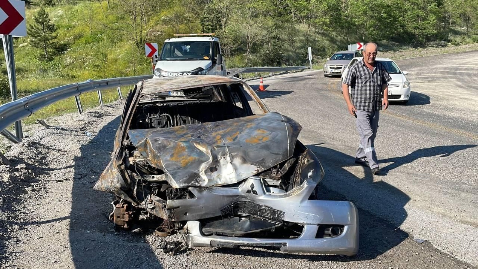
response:
[[[76,269],[163,269],[151,247],[143,241],[142,234],[113,229],[108,220],[113,195],[93,190],[111,159],[113,138],[119,123],[120,116],[94,134],[88,144],[81,146],[81,155],[75,158],[69,229],[72,260]],[[101,161],[92,162],[92,155]]]

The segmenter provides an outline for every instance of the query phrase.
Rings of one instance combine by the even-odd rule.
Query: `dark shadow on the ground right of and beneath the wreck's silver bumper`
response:
[[[320,183],[320,200],[351,201],[359,209],[359,253],[354,257],[340,255],[303,255],[282,254],[258,249],[228,249],[219,248],[210,252],[226,253],[230,255],[244,255],[252,257],[272,257],[287,259],[307,259],[310,261],[337,261],[350,262],[353,260],[370,260],[377,258],[386,251],[398,246],[409,235],[399,227],[407,217],[404,209],[410,197],[384,181],[373,181],[369,169],[365,169],[364,178],[359,178],[348,172],[344,167],[354,163],[355,158],[339,151],[317,146],[307,145],[320,159],[325,178]],[[387,198],[388,204],[380,203],[378,196]],[[390,196],[391,195],[391,196]],[[364,208],[382,208],[386,217],[377,216]],[[384,214],[385,215],[385,214]],[[391,218],[390,218],[391,217]]]

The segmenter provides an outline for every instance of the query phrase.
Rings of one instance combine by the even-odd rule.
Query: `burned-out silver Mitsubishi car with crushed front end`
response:
[[[144,80],[128,95],[94,189],[117,197],[117,226],[148,214],[163,235],[184,232],[188,247],[355,255],[357,209],[318,200],[324,170],[297,140],[301,128],[238,78]]]

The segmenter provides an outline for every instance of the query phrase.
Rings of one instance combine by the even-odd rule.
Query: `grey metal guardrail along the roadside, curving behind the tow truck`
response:
[[[244,67],[237,69],[228,69],[228,76],[235,76],[241,73],[253,72],[281,72],[302,70],[309,67]],[[121,86],[134,85],[141,80],[152,78],[152,75],[127,77],[127,78],[107,78],[100,80],[88,79],[84,82],[68,84],[56,87],[49,90],[34,93],[32,95],[23,97],[21,99],[8,102],[0,105],[0,133],[13,143],[20,143],[22,141],[22,130],[15,130],[15,134],[11,134],[6,128],[15,122],[21,121],[32,115],[34,112],[46,107],[54,102],[66,99],[68,97],[75,97],[76,107],[79,113],[83,113],[81,106],[80,95],[85,92],[98,91],[98,100],[100,105],[103,105],[103,97],[101,90],[112,88],[118,89],[120,99],[123,98],[121,94]]]

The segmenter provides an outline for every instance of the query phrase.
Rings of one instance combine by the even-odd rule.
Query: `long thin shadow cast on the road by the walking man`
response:
[[[477,145],[456,145],[456,146],[433,146],[429,148],[422,148],[413,151],[412,153],[403,157],[393,157],[380,160],[380,163],[392,163],[380,169],[382,174],[387,174],[389,171],[398,168],[404,164],[408,164],[424,157],[439,156],[448,157],[459,150],[475,147]]]

